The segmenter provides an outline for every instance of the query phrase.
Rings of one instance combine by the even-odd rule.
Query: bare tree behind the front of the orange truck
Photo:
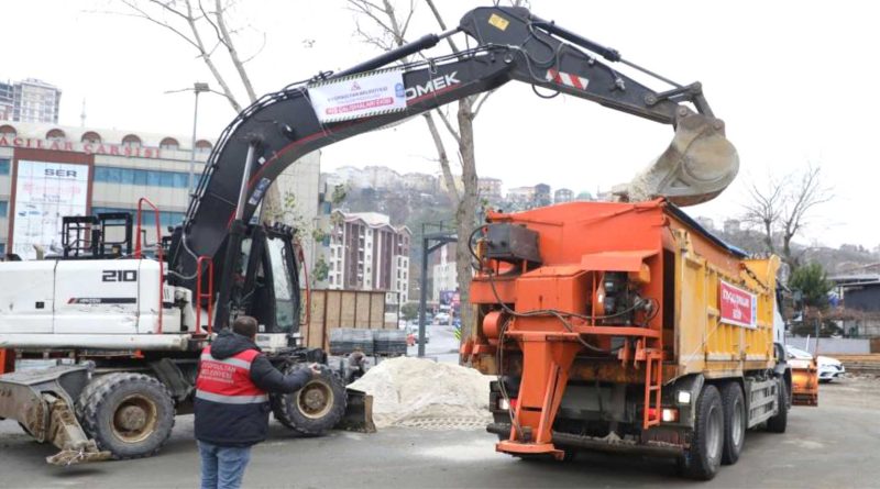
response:
[[[749,201],[744,204],[745,220],[759,225],[765,233],[767,251],[779,253],[782,260],[796,269],[801,255],[792,249],[792,241],[809,225],[816,207],[834,198],[822,179],[822,167],[809,165],[782,179],[769,177],[763,186],[749,186]]]

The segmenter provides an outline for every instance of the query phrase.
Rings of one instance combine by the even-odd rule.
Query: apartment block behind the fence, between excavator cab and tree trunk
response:
[[[328,265],[330,289],[385,290],[387,304],[409,299],[409,243],[407,226],[394,226],[377,212],[334,210],[326,218],[329,240],[320,256]]]

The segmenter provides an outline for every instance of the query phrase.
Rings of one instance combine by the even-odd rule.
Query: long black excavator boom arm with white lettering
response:
[[[384,68],[402,71],[406,109],[342,122],[322,123],[319,120],[309,99],[309,88],[342,82],[346,77],[369,76],[459,31],[474,40],[476,46],[453,55]],[[721,121],[708,114],[694,113],[681,104],[690,101],[694,102],[697,111],[701,108],[707,111],[698,84],[657,92],[565,41],[595,49],[612,60],[620,59],[615,51],[535,18],[527,9],[479,8],[465,14],[454,31],[425,36],[336,76],[322,74],[309,82],[292,85],[264,96],[242,111],[218,141],[190,202],[182,233],[173,244],[173,269],[188,275],[196,269],[196,256],[215,256],[237,218],[239,202],[243,203],[239,216],[246,222],[268,186],[305,154],[464,97],[493,90],[512,79],[675,126],[683,118],[701,118],[700,123],[691,124],[696,130],[691,127],[690,138],[683,143],[685,147],[667,158],[671,162],[667,163],[668,166],[683,164],[688,145],[697,140],[693,134],[702,136],[706,126],[717,133],[723,130]],[[721,134],[722,142],[729,145]],[[729,148],[735,155],[733,146]],[[254,155],[253,165],[246,164],[249,149]],[[663,176],[667,174],[669,171]],[[241,189],[244,189],[244,198]],[[186,253],[180,253],[180,248]]]

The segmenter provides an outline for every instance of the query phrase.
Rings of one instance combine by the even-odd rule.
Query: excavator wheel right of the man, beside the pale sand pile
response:
[[[286,373],[308,368],[305,364],[293,365]],[[271,396],[275,419],[304,436],[318,436],[332,429],[345,414],[345,386],[336,374],[321,368],[302,389],[288,394]]]

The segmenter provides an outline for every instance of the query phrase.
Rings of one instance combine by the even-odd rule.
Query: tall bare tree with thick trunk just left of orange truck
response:
[[[447,31],[440,11],[433,0],[425,0],[431,11],[433,19],[442,31]],[[361,18],[372,21],[381,31],[378,35],[362,29],[360,21],[355,19],[356,33],[364,42],[372,44],[381,49],[389,51],[406,43],[406,32],[415,11],[415,3],[410,0],[409,10],[405,15],[398,16],[391,0],[382,2],[372,0],[348,0],[350,10]],[[512,2],[518,7],[524,4],[524,0]],[[461,53],[452,37],[447,37],[453,53]],[[471,235],[476,223],[476,209],[479,203],[479,189],[476,176],[476,157],[474,153],[474,119],[480,113],[483,103],[492,92],[465,97],[458,102],[455,119],[440,109],[424,114],[425,122],[437,149],[437,159],[443,175],[447,192],[450,200],[455,205],[455,227],[459,241],[455,248],[455,273],[458,276],[459,293],[461,297],[461,337],[466,341],[471,336],[473,325],[473,313],[466,304],[470,303],[470,288],[472,278],[471,252],[468,236]],[[443,137],[438,130],[435,115],[440,119],[443,127],[458,145],[457,156],[461,164],[461,186],[457,181],[455,175],[450,167],[449,153],[446,149]],[[425,291],[421,291],[425,293]]]

